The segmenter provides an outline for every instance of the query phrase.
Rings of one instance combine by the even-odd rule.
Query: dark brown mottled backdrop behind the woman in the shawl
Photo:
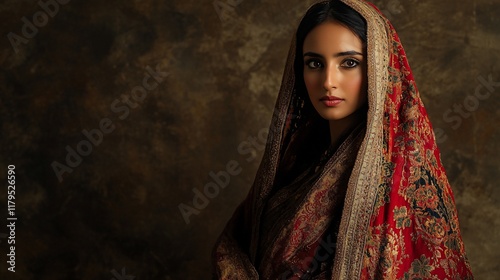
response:
[[[0,279],[209,279],[312,2],[1,1]],[[498,2],[376,1],[434,124],[477,279],[500,276]]]

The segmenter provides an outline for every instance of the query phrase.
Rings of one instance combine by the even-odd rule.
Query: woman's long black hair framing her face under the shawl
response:
[[[301,117],[297,122],[297,133],[287,135],[282,147],[279,176],[275,183],[288,184],[295,176],[311,166],[330,145],[328,121],[322,119],[312,106],[304,83],[303,45],[307,34],[316,26],[327,22],[338,22],[350,29],[366,48],[366,21],[353,8],[340,0],[331,0],[314,4],[302,18],[296,33],[295,46],[295,95],[296,105],[302,103]],[[299,105],[300,106],[300,105]]]

